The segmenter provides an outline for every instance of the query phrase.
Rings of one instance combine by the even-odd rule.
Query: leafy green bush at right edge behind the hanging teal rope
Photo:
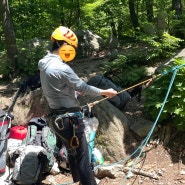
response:
[[[185,130],[185,60],[177,58],[168,68],[166,68],[166,75],[159,79],[147,89],[144,90],[144,109],[149,118],[155,119],[162,106],[167,90],[169,88],[170,78],[172,73],[170,70],[174,66],[180,66],[177,72],[174,84],[167,99],[167,102],[162,111],[159,122],[166,121],[173,122],[179,130]]]

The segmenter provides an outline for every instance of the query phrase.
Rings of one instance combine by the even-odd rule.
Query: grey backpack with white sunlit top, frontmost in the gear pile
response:
[[[15,158],[12,182],[15,184],[39,184],[47,151],[42,146],[21,145],[13,154]],[[13,159],[12,159],[13,160]]]

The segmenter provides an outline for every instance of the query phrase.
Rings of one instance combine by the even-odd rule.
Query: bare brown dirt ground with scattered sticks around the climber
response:
[[[82,63],[72,63],[71,66],[75,72],[87,80],[88,77],[101,73],[99,69],[99,61],[86,61]],[[123,112],[130,124],[134,123],[139,117],[143,118],[143,101],[137,101],[133,98]],[[133,132],[129,132],[125,144],[131,152],[143,141]],[[168,145],[164,146],[158,140],[149,140],[144,148],[144,151],[137,163],[134,165],[133,173],[129,174],[125,179],[126,174],[121,173],[117,178],[111,179],[105,177],[97,179],[99,185],[178,185],[185,184],[185,134],[178,133],[170,140]],[[137,157],[137,155],[135,155]],[[134,163],[134,159],[129,161],[129,164]],[[121,164],[121,163],[120,163]],[[72,183],[70,172],[61,171],[58,175],[48,175],[43,181],[43,185],[64,185],[78,184]]]

